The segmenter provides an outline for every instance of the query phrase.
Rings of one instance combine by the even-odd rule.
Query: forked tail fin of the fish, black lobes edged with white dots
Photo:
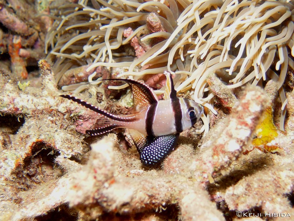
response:
[[[113,122],[113,118],[114,118],[113,114],[108,113],[105,110],[101,110],[100,108],[94,105],[91,105],[87,103],[86,101],[83,101],[71,95],[60,95],[60,97],[72,100],[95,112],[94,117],[96,118],[96,122],[93,124],[90,130],[86,130],[86,133],[90,135],[100,135],[103,133],[108,133],[112,131],[113,129],[120,127],[120,125],[116,125]]]

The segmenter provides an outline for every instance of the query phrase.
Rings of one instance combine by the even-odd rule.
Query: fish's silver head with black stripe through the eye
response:
[[[201,104],[196,103],[193,100],[184,99],[184,107],[182,107],[182,126],[183,131],[188,130],[192,127],[203,114],[203,106]]]

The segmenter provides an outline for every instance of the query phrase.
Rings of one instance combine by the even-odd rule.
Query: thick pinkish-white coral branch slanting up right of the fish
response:
[[[206,142],[201,146],[201,154],[192,161],[189,168],[195,171],[194,176],[199,182],[207,185],[221,169],[240,157],[252,137],[267,100],[263,90],[248,86],[240,98],[240,104],[232,110],[217,138],[210,141],[212,135],[218,133],[215,130],[204,138]]]

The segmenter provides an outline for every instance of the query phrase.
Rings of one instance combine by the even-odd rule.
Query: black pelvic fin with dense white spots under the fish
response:
[[[147,136],[146,144],[140,153],[140,159],[145,166],[160,164],[173,151],[179,138],[179,133],[158,137]]]

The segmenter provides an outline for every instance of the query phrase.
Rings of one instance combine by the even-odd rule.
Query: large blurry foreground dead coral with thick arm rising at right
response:
[[[182,220],[225,220],[211,201],[207,187],[242,155],[267,101],[263,90],[248,86],[240,104],[225,119],[224,130],[211,130],[196,155],[191,145],[186,153],[186,144],[180,144],[163,162],[163,170],[144,171],[137,154],[119,151],[116,135],[109,134],[108,138],[91,145],[87,164],[74,166],[72,172],[66,161],[56,160],[66,164],[68,175],[59,179],[56,187],[48,189],[41,199],[37,196],[28,204],[18,206],[9,217],[29,219],[69,203],[81,220],[113,213],[132,216],[175,205]],[[212,144],[208,142],[211,140]],[[182,158],[180,163],[178,158]],[[53,197],[54,194],[58,196]],[[33,206],[36,202],[38,207]]]

